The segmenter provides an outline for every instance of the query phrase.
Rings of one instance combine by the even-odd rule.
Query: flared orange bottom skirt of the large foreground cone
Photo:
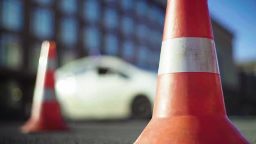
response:
[[[134,144],[249,144],[227,116],[153,117]]]

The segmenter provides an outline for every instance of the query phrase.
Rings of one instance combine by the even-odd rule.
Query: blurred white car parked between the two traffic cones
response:
[[[146,118],[152,114],[157,74],[112,56],[89,56],[56,70],[56,95],[72,120]]]

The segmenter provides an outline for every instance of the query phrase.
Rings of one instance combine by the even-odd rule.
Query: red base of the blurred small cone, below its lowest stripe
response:
[[[39,117],[32,114],[21,126],[21,132],[33,133],[41,131],[67,131],[68,127],[62,118],[58,102],[44,102]]]

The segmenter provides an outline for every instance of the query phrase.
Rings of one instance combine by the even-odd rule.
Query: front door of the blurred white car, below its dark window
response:
[[[129,77],[107,67],[98,67],[97,96],[100,113],[111,115],[118,111],[123,103]]]

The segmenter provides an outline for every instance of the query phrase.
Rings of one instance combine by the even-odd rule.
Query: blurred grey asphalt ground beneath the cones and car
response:
[[[230,119],[243,135],[256,144],[256,117]],[[71,122],[68,132],[19,132],[21,122],[0,122],[0,144],[132,144],[149,120]]]

